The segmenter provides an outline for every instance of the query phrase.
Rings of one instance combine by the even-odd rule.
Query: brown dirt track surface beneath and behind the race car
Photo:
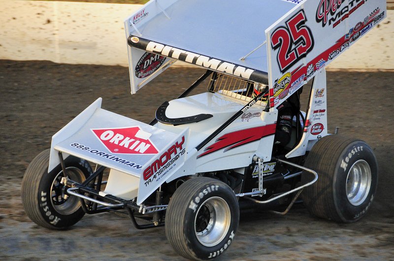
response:
[[[124,67],[0,60],[0,259],[182,260],[163,227],[138,231],[111,214],[85,215],[66,231],[38,227],[24,213],[20,188],[33,157],[96,98],[103,98],[106,110],[149,122],[160,104],[202,73],[170,68],[131,96]],[[341,134],[366,141],[378,159],[378,192],[370,211],[353,224],[314,218],[302,206],[285,216],[241,213],[221,260],[394,259],[394,73],[328,72],[327,78],[328,131],[339,126]]]

